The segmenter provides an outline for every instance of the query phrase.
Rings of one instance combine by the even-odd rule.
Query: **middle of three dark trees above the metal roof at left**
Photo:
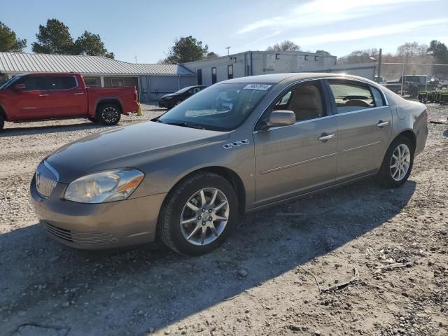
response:
[[[62,54],[73,55],[73,38],[69,27],[57,19],[47,20],[47,25],[39,25],[36,34],[37,42],[32,45],[32,50],[38,54]]]

